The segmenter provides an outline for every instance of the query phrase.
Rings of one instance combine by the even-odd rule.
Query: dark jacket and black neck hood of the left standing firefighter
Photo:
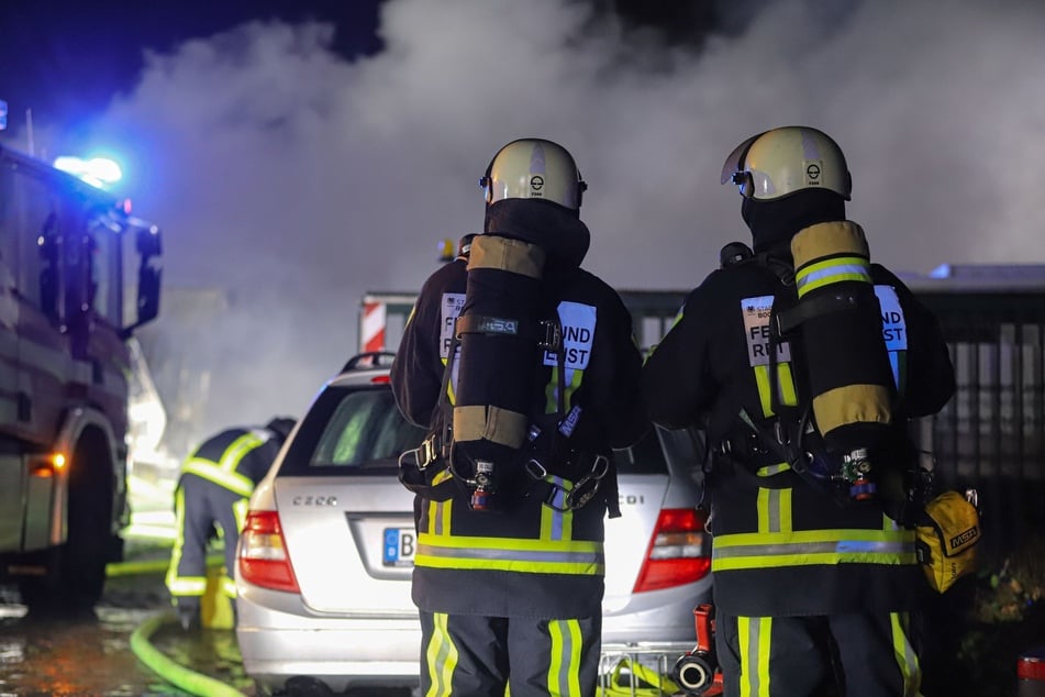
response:
[[[491,209],[488,230],[541,244],[548,253],[548,307],[557,309],[567,334],[564,381],[547,361],[503,369],[534,370],[535,419],[557,401],[549,399],[557,386],[566,386],[566,409],[581,407],[571,451],[609,456],[612,449],[633,444],[648,428],[638,388],[642,358],[618,294],[579,266],[588,248],[587,228],[543,201],[509,199]],[[444,366],[467,277],[466,261],[457,259],[425,281],[392,365],[400,410],[424,428],[440,419]],[[578,324],[591,331],[571,331]],[[611,471],[608,479],[614,475]],[[615,484],[604,482],[602,491],[614,497],[615,507]],[[419,498],[416,504],[413,597],[421,609],[549,619],[600,611],[604,496],[575,511],[557,511],[540,496],[527,496],[505,512],[477,512],[463,490],[447,501]]]

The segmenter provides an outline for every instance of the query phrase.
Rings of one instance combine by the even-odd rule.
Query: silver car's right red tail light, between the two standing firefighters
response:
[[[657,518],[634,593],[700,580],[711,571],[708,518],[696,508],[666,508]]]

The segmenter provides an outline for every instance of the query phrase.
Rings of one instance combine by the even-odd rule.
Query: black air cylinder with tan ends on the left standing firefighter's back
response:
[[[496,234],[471,243],[460,310],[460,357],[454,401],[455,466],[492,465],[490,488],[504,484],[530,429],[537,369],[544,251]]]

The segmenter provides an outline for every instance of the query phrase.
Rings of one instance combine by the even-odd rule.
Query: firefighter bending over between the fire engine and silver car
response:
[[[293,424],[292,419],[277,417],[264,428],[226,429],[203,441],[181,464],[175,490],[177,538],[166,584],[182,628],[200,622],[200,604],[207,590],[207,547],[215,534],[224,541],[221,590],[230,600],[236,597],[236,541],[247,501]]]

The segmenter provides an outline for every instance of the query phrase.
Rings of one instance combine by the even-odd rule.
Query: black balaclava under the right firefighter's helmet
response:
[[[771,201],[746,198],[741,204],[741,217],[752,231],[755,254],[790,254],[791,237],[800,230],[845,220],[845,199],[830,189],[802,189]]]

